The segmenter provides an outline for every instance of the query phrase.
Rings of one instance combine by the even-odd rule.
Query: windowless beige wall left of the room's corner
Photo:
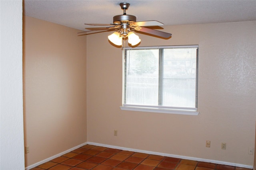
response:
[[[86,36],[24,17],[26,166],[87,141]]]

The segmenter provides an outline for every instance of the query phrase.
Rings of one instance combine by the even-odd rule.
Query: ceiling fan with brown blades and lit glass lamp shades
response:
[[[126,39],[128,37],[128,43],[130,43],[132,46],[137,45],[140,43],[140,39],[138,35],[135,35],[132,30],[140,31],[143,33],[148,33],[150,35],[156,35],[158,37],[162,38],[169,38],[172,36],[171,33],[166,33],[163,31],[158,31],[155,29],[147,28],[149,26],[159,26],[164,25],[163,23],[155,20],[151,21],[136,21],[136,16],[127,15],[126,10],[130,6],[129,3],[120,3],[120,6],[122,10],[124,10],[124,13],[122,15],[117,15],[113,17],[113,23],[110,24],[102,24],[102,23],[85,23],[86,25],[97,25],[97,26],[108,26],[108,27],[101,27],[98,29],[90,30],[90,31],[83,31],[78,33],[79,35],[86,35],[90,33],[91,31],[100,31],[100,30],[106,30],[106,29],[113,29],[117,30],[113,34],[108,36],[108,39],[114,43],[115,45],[122,45],[122,39]]]

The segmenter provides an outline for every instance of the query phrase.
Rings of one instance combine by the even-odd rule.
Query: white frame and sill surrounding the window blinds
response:
[[[191,108],[189,110],[183,110],[182,107],[164,107],[164,106],[140,106],[140,105],[129,105],[124,104],[124,77],[125,77],[125,50],[129,49],[165,49],[165,48],[197,48],[196,53],[196,107]],[[120,109],[127,110],[127,111],[144,111],[144,112],[154,112],[154,113],[170,113],[170,114],[180,114],[180,115],[198,115],[199,111],[197,109],[197,102],[198,102],[198,51],[199,51],[199,45],[175,45],[175,46],[150,46],[150,47],[124,47],[123,48],[123,54],[122,54],[122,60],[123,60],[123,66],[122,66],[122,106],[120,106]],[[159,57],[159,56],[158,56]],[[159,57],[160,59],[160,57]],[[161,61],[159,61],[161,62]],[[158,92],[158,95],[160,95],[161,92]]]

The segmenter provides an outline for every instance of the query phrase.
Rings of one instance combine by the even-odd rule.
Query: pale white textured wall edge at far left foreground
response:
[[[22,1],[0,1],[0,169],[24,169]]]

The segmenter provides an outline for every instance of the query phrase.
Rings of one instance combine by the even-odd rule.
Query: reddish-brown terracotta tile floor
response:
[[[31,170],[250,170],[131,152],[126,150],[84,145]]]

